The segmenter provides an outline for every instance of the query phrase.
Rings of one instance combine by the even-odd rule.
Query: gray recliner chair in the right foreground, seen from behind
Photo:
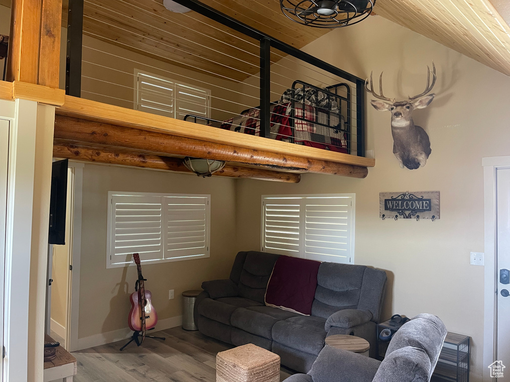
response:
[[[308,374],[294,374],[285,382],[427,382],[446,333],[438,317],[419,314],[395,333],[384,361],[326,346]]]

